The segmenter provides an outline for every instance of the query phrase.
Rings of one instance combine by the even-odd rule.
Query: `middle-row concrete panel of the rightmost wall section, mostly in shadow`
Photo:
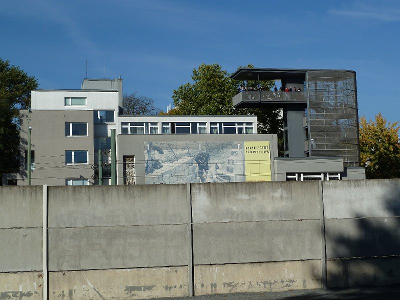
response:
[[[400,217],[325,220],[326,257],[400,255]]]

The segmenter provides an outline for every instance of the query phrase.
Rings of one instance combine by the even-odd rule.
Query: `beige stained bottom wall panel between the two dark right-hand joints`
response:
[[[320,260],[194,266],[194,294],[320,288]]]

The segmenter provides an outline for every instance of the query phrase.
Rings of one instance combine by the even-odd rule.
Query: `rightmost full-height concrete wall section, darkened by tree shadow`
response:
[[[337,183],[323,183],[327,287],[400,283],[400,179]]]

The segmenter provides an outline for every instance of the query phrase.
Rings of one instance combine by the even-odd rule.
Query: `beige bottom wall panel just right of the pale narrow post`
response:
[[[49,300],[187,296],[187,266],[49,273]]]

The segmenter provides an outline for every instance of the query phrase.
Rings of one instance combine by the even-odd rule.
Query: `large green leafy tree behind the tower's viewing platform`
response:
[[[249,64],[247,67],[253,67]],[[257,115],[258,133],[277,133],[283,144],[280,109],[238,108],[232,106],[232,97],[240,86],[269,90],[274,81],[236,81],[219,64],[202,63],[193,69],[192,82],[173,90],[175,108],[168,114],[254,114]]]

